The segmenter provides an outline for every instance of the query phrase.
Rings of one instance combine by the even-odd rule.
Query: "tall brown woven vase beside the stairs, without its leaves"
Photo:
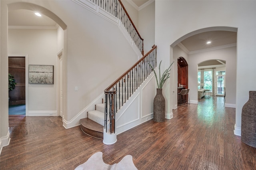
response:
[[[154,117],[155,122],[165,121],[165,99],[162,93],[162,89],[156,89],[156,96],[154,98]]]

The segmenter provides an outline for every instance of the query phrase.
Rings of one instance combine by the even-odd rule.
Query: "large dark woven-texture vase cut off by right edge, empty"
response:
[[[256,148],[256,91],[249,91],[249,100],[242,108],[241,140]]]

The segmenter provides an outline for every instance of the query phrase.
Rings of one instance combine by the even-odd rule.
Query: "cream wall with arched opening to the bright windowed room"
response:
[[[188,83],[190,86],[190,100],[198,101],[198,64],[210,59],[226,61],[226,97],[225,105],[236,107],[236,47],[216,49],[188,56]]]

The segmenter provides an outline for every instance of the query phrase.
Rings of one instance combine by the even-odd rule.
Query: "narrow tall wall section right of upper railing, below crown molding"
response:
[[[144,39],[144,54],[155,44],[155,2],[139,11],[139,33]]]

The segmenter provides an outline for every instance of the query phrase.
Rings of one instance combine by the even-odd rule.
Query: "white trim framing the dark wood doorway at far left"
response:
[[[25,57],[25,109],[26,109],[26,116],[28,114],[28,55],[14,55],[9,54],[8,57]]]

